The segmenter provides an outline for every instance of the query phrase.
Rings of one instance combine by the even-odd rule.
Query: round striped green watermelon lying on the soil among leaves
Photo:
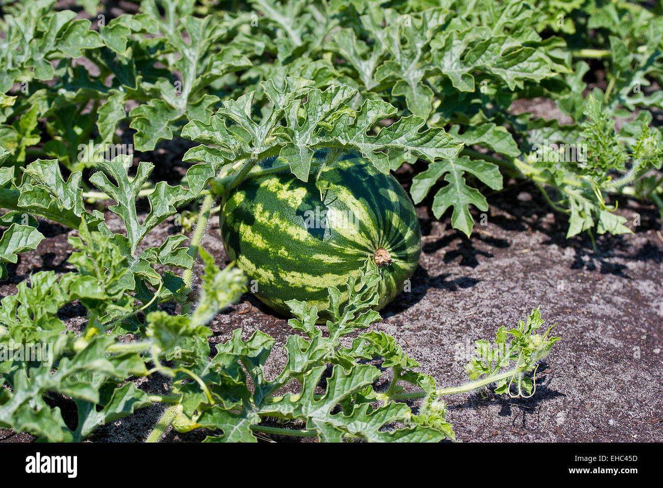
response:
[[[226,254],[247,274],[254,295],[284,315],[293,298],[324,311],[327,287],[342,291],[368,262],[381,276],[381,309],[419,261],[412,202],[391,174],[356,155],[324,167],[317,187],[312,180],[289,171],[245,180],[219,214]]]

